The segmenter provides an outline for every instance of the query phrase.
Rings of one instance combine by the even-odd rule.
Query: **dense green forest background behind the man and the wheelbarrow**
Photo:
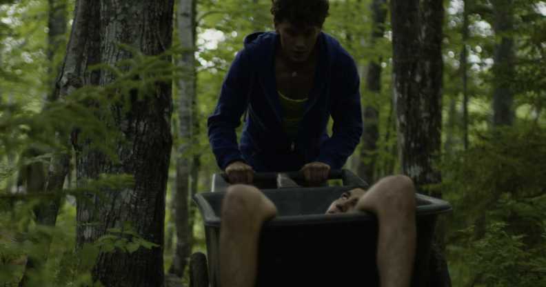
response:
[[[172,22],[164,23],[173,30],[157,24],[161,37],[154,36],[154,28],[134,31],[145,34],[139,41],[146,43],[156,38],[170,43],[172,35],[172,45],[159,41],[151,45],[155,50],[139,50],[129,45],[136,40],[108,44],[103,39],[108,36],[93,32],[108,28],[74,32],[76,23],[92,23],[93,15],[85,14],[94,9],[88,1],[0,1],[0,286],[90,286],[92,278],[106,286],[125,286],[119,283],[123,270],[112,275],[119,279],[109,279],[97,267],[121,254],[163,254],[155,262],[163,262],[167,277],[188,282],[188,256],[205,250],[201,217],[190,198],[210,190],[211,175],[219,172],[206,119],[243,38],[272,30],[272,19],[268,0],[179,0],[174,10],[169,10],[172,1],[159,2],[166,8],[158,4],[154,12],[172,14]],[[434,2],[416,1],[423,10]],[[350,52],[361,73],[365,133],[345,168],[369,182],[407,173],[399,141],[400,102],[394,101],[398,85],[392,77],[400,68],[394,61],[391,13],[398,4],[331,0],[323,29]],[[423,181],[419,188],[454,208],[438,225],[452,285],[546,286],[546,2],[449,0],[443,1],[443,9],[429,11],[443,23],[443,29],[429,31],[441,42],[441,66],[429,73],[442,76],[436,99],[440,148],[430,163],[441,177]],[[103,46],[85,41],[94,37],[102,37]],[[84,52],[74,54],[84,46]],[[102,54],[95,59],[93,50],[123,57]],[[86,59],[83,83],[66,72],[83,61],[81,55]],[[170,89],[174,106],[157,100]],[[156,158],[147,155],[144,163],[154,170],[170,163],[166,200],[150,199],[156,213],[146,213],[138,204],[135,210],[143,219],[163,218],[157,209],[164,210],[161,228],[154,228],[159,222],[146,227],[129,220],[130,215],[110,206],[85,209],[104,198],[117,202],[117,194],[123,200],[112,204],[112,210],[132,208],[131,197],[143,193],[117,193],[131,186],[144,186],[133,188],[137,191],[151,186],[161,195],[160,181],[140,185],[140,177],[112,168],[132,163],[119,141],[137,142],[141,128],[138,123],[134,130],[126,128],[133,121],[116,115],[152,115],[150,103],[169,111],[163,116],[170,127],[158,127],[170,129],[172,150]],[[157,135],[163,137],[159,131]],[[164,138],[161,144],[168,146],[170,136]],[[101,164],[110,167],[85,168]],[[144,169],[136,170],[146,175]],[[104,190],[106,195],[98,192]],[[90,217],[110,218],[110,213],[117,216],[115,224],[105,224],[100,232],[88,229]],[[146,228],[161,236],[150,237]]]

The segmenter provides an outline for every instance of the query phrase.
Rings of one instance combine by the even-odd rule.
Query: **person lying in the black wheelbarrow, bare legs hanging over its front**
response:
[[[379,226],[376,263],[380,286],[406,287],[410,286],[415,256],[415,209],[412,180],[397,175],[381,179],[368,190],[345,192],[326,212],[332,216],[373,212]],[[221,212],[221,286],[254,286],[260,230],[265,221],[275,217],[276,207],[256,187],[236,184],[228,188]]]

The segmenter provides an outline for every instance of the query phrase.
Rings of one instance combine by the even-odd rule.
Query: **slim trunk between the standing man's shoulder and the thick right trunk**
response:
[[[385,32],[385,19],[387,18],[387,1],[373,0],[372,9],[372,37],[371,43],[383,37]],[[378,59],[370,61],[367,67],[366,89],[378,95],[381,92],[381,65]],[[364,130],[362,134],[361,160],[358,161],[358,175],[366,181],[375,181],[374,170],[376,168],[377,140],[379,138],[379,111],[374,105],[366,105],[363,108]]]

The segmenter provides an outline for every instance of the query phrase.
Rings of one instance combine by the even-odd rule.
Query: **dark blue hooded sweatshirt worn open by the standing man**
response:
[[[362,135],[360,79],[352,57],[321,32],[312,88],[296,139],[283,130],[283,109],[276,88],[274,61],[279,34],[256,32],[245,38],[226,75],[220,98],[208,118],[212,152],[224,170],[245,161],[256,172],[299,170],[312,161],[340,169]],[[246,111],[246,112],[245,112]],[[237,145],[235,129],[246,119]],[[332,137],[327,123],[332,116]]]

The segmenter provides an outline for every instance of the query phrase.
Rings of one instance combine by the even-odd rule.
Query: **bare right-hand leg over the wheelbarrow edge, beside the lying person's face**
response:
[[[356,204],[374,212],[379,221],[377,266],[381,287],[407,287],[415,257],[415,188],[409,177],[385,177]]]

